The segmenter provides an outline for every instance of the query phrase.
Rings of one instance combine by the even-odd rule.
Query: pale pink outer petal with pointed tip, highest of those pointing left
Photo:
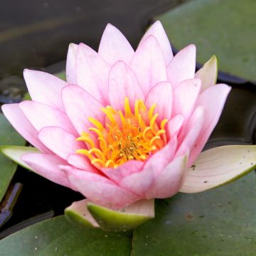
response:
[[[28,70],[23,71],[29,95],[33,101],[41,102],[59,110],[63,109],[61,90],[67,82],[45,72]]]

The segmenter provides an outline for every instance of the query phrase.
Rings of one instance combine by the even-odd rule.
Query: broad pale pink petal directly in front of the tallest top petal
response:
[[[148,36],[139,44],[132,58],[131,67],[145,96],[151,87],[167,80],[163,53],[154,36]]]

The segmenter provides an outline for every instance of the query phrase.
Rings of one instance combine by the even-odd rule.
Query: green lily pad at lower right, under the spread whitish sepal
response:
[[[156,201],[156,218],[135,230],[132,255],[255,255],[256,176]]]

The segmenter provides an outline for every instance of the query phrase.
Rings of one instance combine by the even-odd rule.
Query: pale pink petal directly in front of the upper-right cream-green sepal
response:
[[[193,112],[201,88],[200,79],[181,82],[174,91],[173,115],[182,114],[187,119]]]

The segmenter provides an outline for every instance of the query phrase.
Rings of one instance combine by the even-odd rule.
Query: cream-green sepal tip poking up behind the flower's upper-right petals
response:
[[[218,77],[218,60],[215,55],[213,55],[210,60],[208,60],[203,68],[198,70],[195,78],[200,78],[202,81],[201,92],[206,90],[208,87],[215,85]]]

